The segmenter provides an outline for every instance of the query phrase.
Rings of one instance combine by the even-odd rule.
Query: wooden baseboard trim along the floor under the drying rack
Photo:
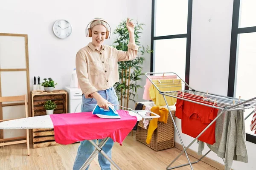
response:
[[[181,150],[181,151],[183,150],[182,145],[177,143],[177,142],[174,143],[174,147],[176,147],[178,150]],[[194,150],[187,149],[186,151],[189,155],[195,157],[196,159],[200,159],[202,157],[201,155],[198,155],[197,152],[195,152]],[[221,164],[217,161],[214,161],[212,159],[209,159],[207,157],[204,157],[201,161],[203,161],[206,164],[211,165],[212,167],[215,167],[218,170],[224,170],[225,169],[225,166],[223,164]]]

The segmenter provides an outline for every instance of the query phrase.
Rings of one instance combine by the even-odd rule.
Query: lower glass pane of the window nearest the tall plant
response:
[[[186,38],[155,40],[154,72],[174,72],[185,81]]]

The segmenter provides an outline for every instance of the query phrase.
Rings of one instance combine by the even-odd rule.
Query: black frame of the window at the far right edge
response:
[[[229,64],[229,77],[227,96],[234,97],[236,85],[236,68],[237,68],[237,40],[238,34],[256,32],[256,26],[239,28],[239,14],[240,14],[240,0],[234,0],[233,4],[233,18],[232,18],[232,31],[230,43],[230,64]],[[246,140],[256,144],[256,136],[246,133]]]

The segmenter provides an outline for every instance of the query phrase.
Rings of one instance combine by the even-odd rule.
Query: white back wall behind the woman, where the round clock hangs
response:
[[[140,42],[145,46],[150,45],[151,3],[146,3],[147,0],[135,1],[1,1],[0,32],[28,34],[31,90],[34,76],[40,76],[41,82],[44,78],[51,77],[58,83],[56,89],[63,89],[64,86],[69,86],[70,74],[76,67],[77,51],[91,41],[91,38],[85,37],[85,28],[93,18],[104,18],[112,29],[127,17],[145,23]],[[73,27],[72,34],[65,40],[57,38],[52,31],[53,23],[59,19],[68,20]],[[113,34],[111,40],[105,40],[105,44],[112,45],[115,37]],[[145,57],[149,59],[150,55]],[[149,62],[150,60],[145,62],[147,67],[144,65],[148,71]],[[138,94],[143,94],[142,91],[143,89],[140,89]],[[141,99],[142,97],[139,97],[138,101]],[[131,107],[134,107],[133,103]]]

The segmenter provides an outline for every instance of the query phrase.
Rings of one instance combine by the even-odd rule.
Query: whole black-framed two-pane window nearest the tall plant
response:
[[[175,72],[189,83],[192,0],[152,0],[151,72]]]

